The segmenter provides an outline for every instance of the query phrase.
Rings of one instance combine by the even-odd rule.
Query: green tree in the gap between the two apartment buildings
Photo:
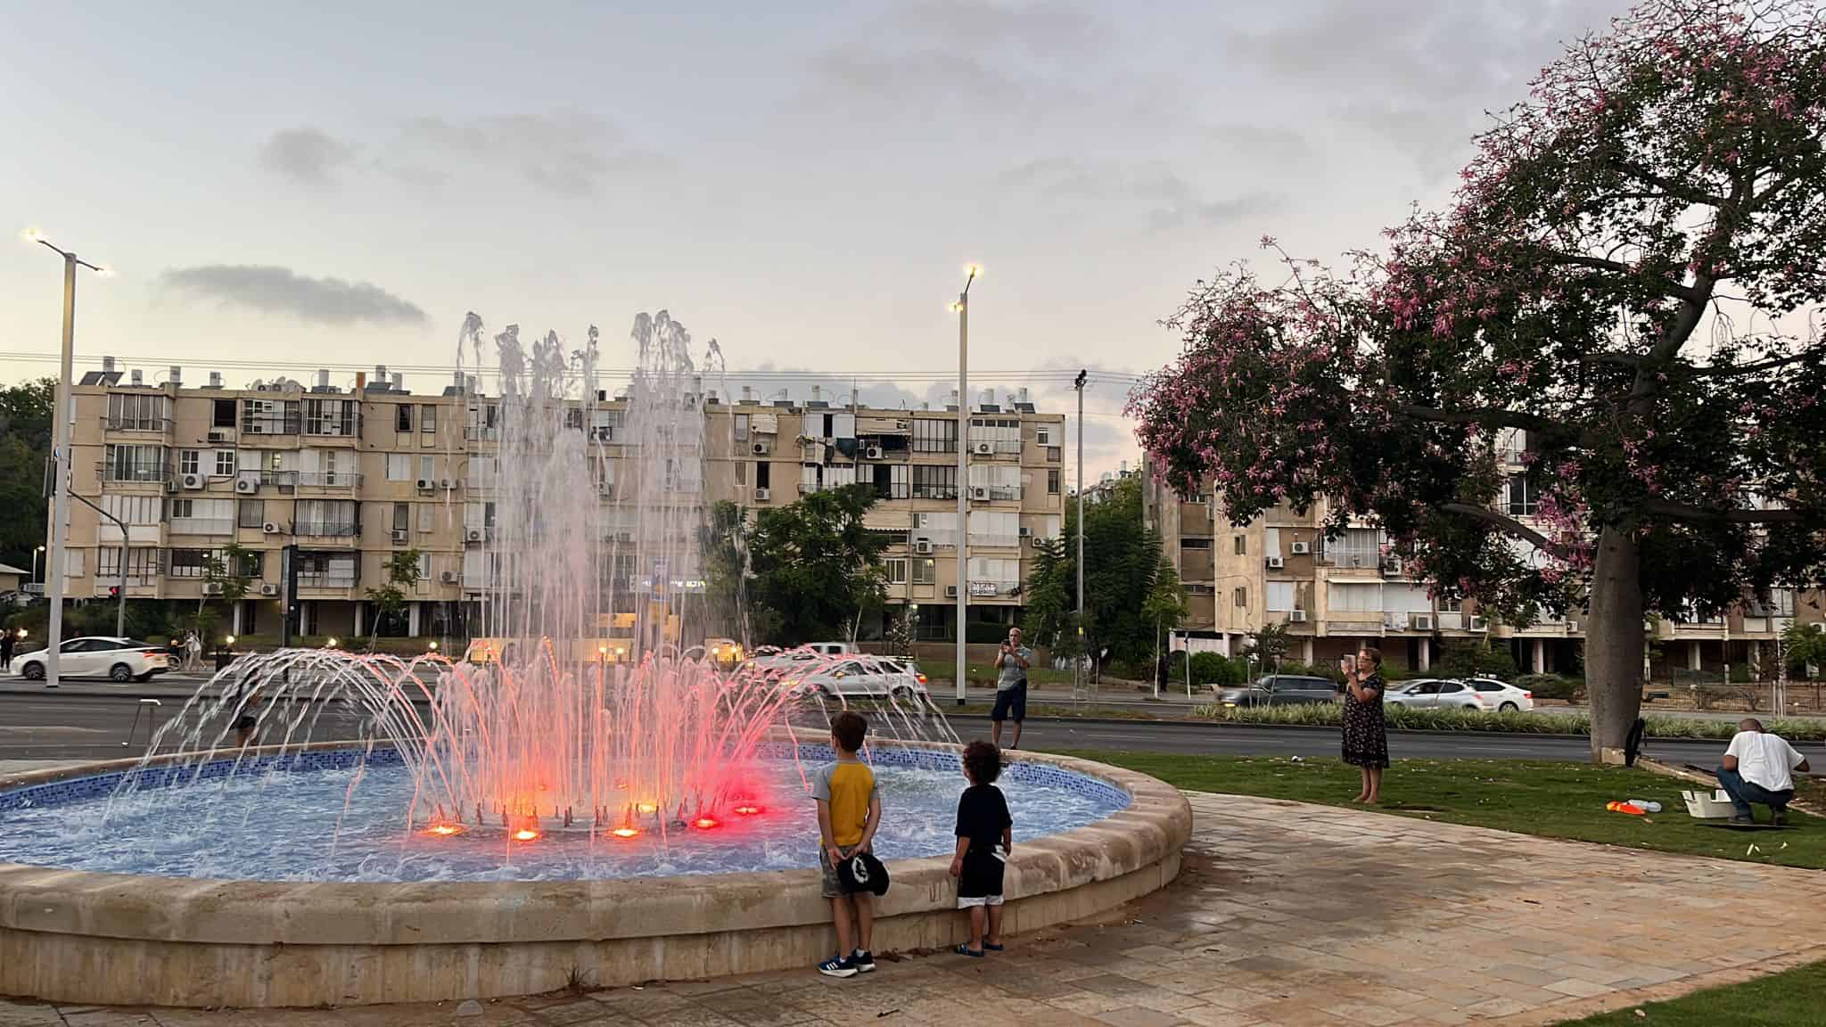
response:
[[[1185,616],[1178,576],[1169,566],[1161,581],[1160,535],[1141,519],[1141,482],[1123,479],[1097,503],[1085,504],[1085,625],[1086,652],[1110,651],[1110,660],[1154,663],[1158,623],[1169,612]],[[1023,588],[1026,632],[1063,656],[1074,654],[1077,630],[1077,504],[1065,510],[1065,537],[1041,548]],[[1174,603],[1169,603],[1169,596]],[[1141,601],[1136,601],[1141,598]]]

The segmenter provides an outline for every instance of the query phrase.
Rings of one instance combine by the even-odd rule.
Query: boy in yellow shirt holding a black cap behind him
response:
[[[824,870],[824,897],[831,899],[836,921],[836,959],[825,959],[818,972],[853,978],[875,969],[869,936],[875,932],[875,905],[869,892],[844,892],[836,864],[869,852],[875,830],[882,826],[882,797],[875,789],[875,771],[856,753],[869,733],[860,713],[844,711],[831,718],[831,747],[836,762],[818,768],[811,797],[818,800],[818,868]],[[856,932],[851,936],[851,917]],[[851,948],[851,941],[856,947]]]

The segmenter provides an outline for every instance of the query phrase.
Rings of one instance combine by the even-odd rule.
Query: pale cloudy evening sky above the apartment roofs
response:
[[[601,325],[624,367],[668,309],[732,391],[937,406],[979,261],[971,393],[1070,413],[1090,369],[1094,481],[1136,459],[1123,400],[1200,278],[1269,270],[1264,234],[1377,247],[1621,9],[0,0],[0,210],[113,270],[79,285],[79,371],[192,384],[435,389],[469,311]],[[58,331],[55,254],[0,245],[0,380],[55,371]]]

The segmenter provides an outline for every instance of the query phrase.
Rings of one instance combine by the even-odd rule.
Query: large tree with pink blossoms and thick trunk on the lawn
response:
[[[1512,623],[1585,607],[1592,751],[1620,747],[1647,610],[1822,581],[1822,130],[1815,4],[1651,0],[1548,66],[1455,205],[1380,254],[1198,283],[1132,398],[1143,446],[1238,523],[1322,495],[1331,530],[1375,517]],[[1494,506],[1508,429],[1530,515]]]

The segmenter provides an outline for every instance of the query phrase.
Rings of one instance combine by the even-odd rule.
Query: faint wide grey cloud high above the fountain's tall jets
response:
[[[415,117],[400,126],[380,166],[411,185],[438,185],[458,170],[515,175],[559,196],[595,196],[617,172],[652,155],[632,150],[606,122],[581,115],[480,121]]]

